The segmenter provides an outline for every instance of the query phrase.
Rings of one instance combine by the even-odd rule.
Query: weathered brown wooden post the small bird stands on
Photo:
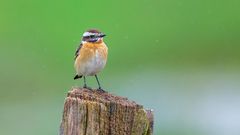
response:
[[[60,135],[152,135],[153,112],[127,98],[73,88],[64,104]]]

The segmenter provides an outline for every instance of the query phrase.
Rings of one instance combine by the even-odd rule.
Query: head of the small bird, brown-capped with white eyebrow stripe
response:
[[[91,42],[91,43],[99,43],[103,41],[103,37],[106,35],[96,29],[90,29],[83,33],[82,41],[83,42]]]

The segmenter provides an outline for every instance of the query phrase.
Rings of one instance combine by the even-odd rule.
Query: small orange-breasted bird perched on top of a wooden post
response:
[[[76,70],[76,76],[74,80],[83,77],[83,88],[89,88],[87,86],[86,77],[95,76],[98,83],[98,90],[102,90],[97,74],[101,72],[106,63],[108,57],[108,47],[103,41],[103,37],[106,35],[97,29],[89,29],[82,35],[82,40],[75,52],[74,68]]]

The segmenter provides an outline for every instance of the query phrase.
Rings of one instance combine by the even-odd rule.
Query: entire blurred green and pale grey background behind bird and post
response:
[[[155,135],[240,134],[240,1],[0,1],[0,134],[58,134],[82,33],[108,36],[99,75],[154,109]],[[96,87],[93,78],[89,84]]]

